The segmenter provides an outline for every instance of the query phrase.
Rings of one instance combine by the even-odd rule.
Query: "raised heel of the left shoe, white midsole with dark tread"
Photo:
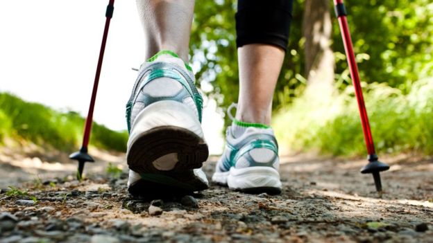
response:
[[[139,174],[173,175],[201,168],[209,155],[194,111],[173,100],[155,102],[141,111],[131,129],[126,159]]]

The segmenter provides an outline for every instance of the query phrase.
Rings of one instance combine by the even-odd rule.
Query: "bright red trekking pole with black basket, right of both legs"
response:
[[[364,132],[364,138],[366,141],[366,147],[368,151],[368,163],[361,169],[361,173],[373,174],[375,186],[377,192],[382,192],[382,183],[380,181],[380,172],[389,169],[389,165],[378,161],[378,157],[375,152],[375,146],[373,143],[373,136],[371,135],[370,123],[368,123],[368,115],[364,103],[364,97],[362,96],[361,81],[359,80],[358,67],[355,60],[355,53],[353,52],[352,39],[350,37],[350,31],[348,22],[346,19],[346,8],[344,7],[343,0],[334,0],[335,14],[337,15],[339,26],[341,30],[341,37],[343,37],[344,50],[348,59],[348,65],[350,69],[350,77],[352,78],[353,86],[355,87],[355,94],[359,107],[359,116],[361,116],[362,130]]]

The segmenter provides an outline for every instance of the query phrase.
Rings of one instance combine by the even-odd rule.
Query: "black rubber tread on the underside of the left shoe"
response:
[[[166,154],[178,154],[178,162],[171,170],[158,170],[153,161]],[[128,188],[132,195],[155,192],[173,194],[207,189],[207,183],[194,174],[207,160],[209,150],[203,139],[188,129],[162,126],[150,129],[133,141],[126,160],[131,170],[142,179]]]

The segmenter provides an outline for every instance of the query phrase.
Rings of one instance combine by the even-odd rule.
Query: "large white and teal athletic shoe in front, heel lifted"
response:
[[[126,105],[132,195],[207,188],[200,169],[209,154],[201,129],[202,104],[194,74],[178,55],[160,51],[142,64]]]

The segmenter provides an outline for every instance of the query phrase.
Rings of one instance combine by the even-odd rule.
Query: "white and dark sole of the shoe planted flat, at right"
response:
[[[229,172],[215,172],[212,181],[248,194],[278,195],[282,191],[280,174],[269,167],[230,168]]]

